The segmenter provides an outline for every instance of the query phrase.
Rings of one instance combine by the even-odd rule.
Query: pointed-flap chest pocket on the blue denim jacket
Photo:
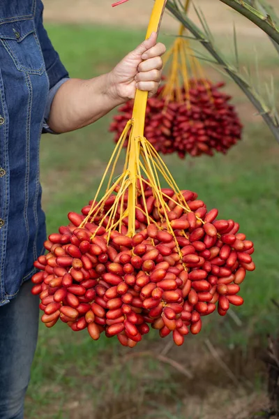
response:
[[[45,61],[33,20],[0,24],[0,47],[6,49],[19,71],[41,75]]]

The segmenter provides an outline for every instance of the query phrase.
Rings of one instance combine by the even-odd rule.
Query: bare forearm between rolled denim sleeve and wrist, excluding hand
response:
[[[52,101],[48,124],[56,133],[92,124],[123,103],[114,92],[111,73],[91,80],[69,79]]]

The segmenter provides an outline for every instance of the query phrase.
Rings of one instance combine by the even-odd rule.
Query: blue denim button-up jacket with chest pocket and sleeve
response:
[[[0,306],[35,272],[45,214],[40,135],[68,73],[43,27],[40,0],[0,1]]]

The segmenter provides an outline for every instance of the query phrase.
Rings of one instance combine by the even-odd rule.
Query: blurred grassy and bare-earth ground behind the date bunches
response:
[[[73,77],[110,70],[142,40],[151,0],[130,0],[114,9],[111,3],[45,1],[47,30]],[[234,20],[242,64],[253,69],[256,45],[263,89],[271,75],[278,84],[278,55],[259,29],[218,0],[197,4],[230,60]],[[166,16],[162,34],[174,34],[176,28]],[[223,77],[211,67],[204,71],[213,80]],[[236,219],[255,242],[257,270],[241,287],[245,304],[227,318],[213,317],[199,337],[189,337],[181,348],[151,334],[136,351],[127,351],[114,339],[96,343],[86,332],[64,325],[41,326],[26,419],[254,419],[268,406],[260,355],[266,333],[278,325],[271,298],[278,297],[279,279],[279,147],[246,96],[232,82],[226,89],[245,126],[239,145],[213,159],[164,160],[181,189],[187,185],[197,191],[209,208]],[[107,133],[111,119],[112,114],[75,133],[43,138],[43,207],[50,233],[96,191],[114,147]]]

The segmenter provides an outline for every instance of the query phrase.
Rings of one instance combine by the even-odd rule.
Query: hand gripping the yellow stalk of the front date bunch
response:
[[[141,43],[126,55],[110,73],[110,94],[115,99],[127,101],[135,98],[136,89],[149,91],[149,97],[157,93],[161,78],[165,45],[156,43],[157,34]]]

